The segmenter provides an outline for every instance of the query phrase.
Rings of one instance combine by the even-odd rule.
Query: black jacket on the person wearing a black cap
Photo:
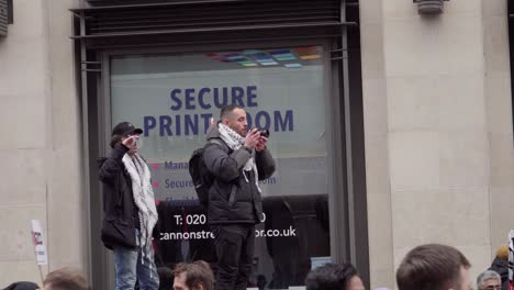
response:
[[[104,219],[119,220],[136,228],[139,219],[132,193],[132,179],[122,161],[127,152],[126,146],[118,144],[108,158],[99,158],[99,177],[102,181]],[[108,248],[118,246],[104,245]]]

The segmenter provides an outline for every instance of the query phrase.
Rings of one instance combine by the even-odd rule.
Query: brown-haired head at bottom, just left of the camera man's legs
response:
[[[208,263],[180,263],[174,269],[174,290],[213,290],[214,274]]]

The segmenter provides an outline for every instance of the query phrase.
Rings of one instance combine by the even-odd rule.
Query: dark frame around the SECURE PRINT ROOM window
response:
[[[345,115],[344,115],[344,92],[343,92],[343,69],[340,63],[332,58],[333,52],[337,49],[339,43],[336,38],[305,38],[305,40],[287,40],[280,42],[247,42],[247,43],[226,43],[226,44],[209,44],[209,45],[176,45],[176,46],[163,46],[163,47],[135,47],[135,48],[123,48],[123,49],[105,49],[98,52],[98,58],[102,66],[102,74],[97,78],[97,115],[92,118],[92,122],[97,122],[98,132],[91,132],[90,142],[98,146],[98,156],[105,156],[109,152],[109,138],[111,134],[112,124],[111,120],[111,86],[110,86],[110,63],[113,56],[123,55],[137,55],[137,54],[199,54],[209,53],[213,51],[234,51],[234,49],[256,49],[256,48],[282,48],[293,46],[311,46],[317,45],[323,47],[323,66],[324,66],[324,98],[326,101],[325,108],[325,124],[327,125],[327,168],[329,169],[328,176],[328,202],[329,202],[329,223],[331,223],[331,255],[334,261],[342,263],[351,260],[355,264],[353,257],[356,256],[355,247],[350,246],[351,241],[356,237],[351,237],[351,233],[355,232],[355,221],[349,217],[350,211],[358,211],[359,209],[366,209],[366,204],[349,204],[349,192],[347,187],[347,166],[345,164],[345,150],[346,140],[350,138],[349,132],[346,132]],[[332,127],[328,130],[328,125]],[[364,144],[362,144],[364,147]],[[91,189],[94,189],[94,183],[98,180],[91,175]],[[97,186],[98,187],[98,186]],[[91,190],[93,191],[93,190]],[[343,194],[342,194],[343,193]],[[99,192],[101,196],[101,192]],[[336,197],[336,194],[338,194]],[[354,193],[355,194],[355,193]],[[90,199],[90,223],[91,231],[100,232],[99,225],[101,226],[102,216],[102,204],[101,198],[96,201]],[[359,209],[351,209],[350,207],[358,207]],[[94,219],[94,221],[93,221]],[[99,222],[100,221],[100,222]],[[367,238],[367,236],[365,237]],[[96,267],[91,266],[92,276],[100,275],[103,286],[112,288],[114,286],[114,263],[112,255],[108,254],[109,250],[103,247],[100,241],[94,241],[91,234],[91,247],[100,246],[102,248],[97,249],[101,253],[100,256],[91,257],[91,265],[103,263],[103,271],[97,270]],[[355,242],[354,242],[355,244]],[[365,250],[366,256],[368,248],[360,248],[359,252]],[[368,261],[369,266],[369,261]],[[366,277],[364,277],[365,280]],[[98,287],[98,286],[96,286]],[[103,288],[103,287],[100,287]],[[108,288],[108,289],[110,289]]]

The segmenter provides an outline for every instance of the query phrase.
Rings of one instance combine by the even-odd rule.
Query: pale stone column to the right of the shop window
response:
[[[514,220],[506,1],[360,5],[371,288],[425,243],[476,277]]]

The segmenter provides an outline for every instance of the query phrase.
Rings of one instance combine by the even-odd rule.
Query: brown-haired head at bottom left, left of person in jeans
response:
[[[72,267],[49,272],[43,281],[43,290],[88,290],[88,281]]]

